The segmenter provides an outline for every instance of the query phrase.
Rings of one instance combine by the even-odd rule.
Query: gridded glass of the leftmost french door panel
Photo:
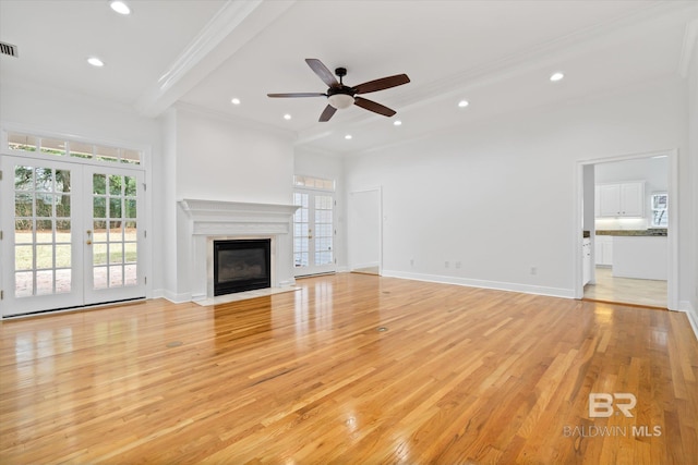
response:
[[[71,291],[71,201],[69,170],[14,167],[15,297]]]

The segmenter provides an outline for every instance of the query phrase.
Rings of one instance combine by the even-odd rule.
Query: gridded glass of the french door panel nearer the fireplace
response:
[[[93,183],[93,286],[99,290],[136,285],[136,179],[94,174]]]

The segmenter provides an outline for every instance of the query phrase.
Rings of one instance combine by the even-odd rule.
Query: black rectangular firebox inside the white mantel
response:
[[[214,295],[270,286],[270,238],[214,241]]]

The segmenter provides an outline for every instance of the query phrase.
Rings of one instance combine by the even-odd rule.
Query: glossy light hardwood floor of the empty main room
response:
[[[698,457],[684,314],[357,273],[298,285],[5,320],[0,463]],[[633,417],[590,417],[590,393],[635,395]]]

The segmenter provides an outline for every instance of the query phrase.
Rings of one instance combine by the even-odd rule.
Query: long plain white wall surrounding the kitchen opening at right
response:
[[[671,81],[458,127],[353,156],[347,188],[383,186],[384,274],[571,297],[576,162],[666,148],[686,162],[686,101]]]

